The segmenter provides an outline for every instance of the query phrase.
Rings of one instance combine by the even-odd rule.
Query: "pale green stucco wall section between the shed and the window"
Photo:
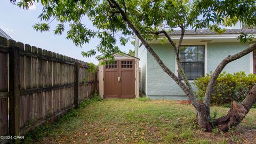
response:
[[[175,73],[175,54],[171,44],[151,44],[165,65]],[[147,95],[151,99],[187,99],[185,93],[158,65],[154,57],[147,57]],[[179,96],[179,97],[174,97]]]

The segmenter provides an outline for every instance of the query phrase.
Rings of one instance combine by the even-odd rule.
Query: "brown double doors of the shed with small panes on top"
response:
[[[134,60],[115,60],[104,67],[104,98],[135,98]]]

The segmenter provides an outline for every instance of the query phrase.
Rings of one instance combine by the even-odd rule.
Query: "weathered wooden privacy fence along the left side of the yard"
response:
[[[0,37],[0,135],[55,119],[97,90],[86,62]]]

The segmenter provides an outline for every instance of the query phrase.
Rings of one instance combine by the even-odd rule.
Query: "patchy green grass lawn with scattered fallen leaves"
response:
[[[212,107],[217,117],[228,108]],[[195,110],[180,101],[140,99],[89,100],[61,117],[39,127],[26,143],[254,143],[256,109],[229,133],[196,127]]]

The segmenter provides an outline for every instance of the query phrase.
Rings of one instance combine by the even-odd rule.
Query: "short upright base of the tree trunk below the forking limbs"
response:
[[[196,112],[196,122],[204,131],[212,131],[212,123],[210,122],[210,107],[207,107],[204,103],[200,103],[199,110]]]

